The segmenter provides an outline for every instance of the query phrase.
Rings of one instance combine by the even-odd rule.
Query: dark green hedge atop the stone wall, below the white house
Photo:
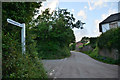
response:
[[[120,53],[120,28],[114,28],[101,34],[98,38],[99,48],[118,49]]]

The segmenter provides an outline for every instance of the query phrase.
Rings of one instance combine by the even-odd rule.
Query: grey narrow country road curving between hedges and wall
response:
[[[96,61],[81,52],[59,60],[42,60],[50,78],[117,78],[118,66]]]

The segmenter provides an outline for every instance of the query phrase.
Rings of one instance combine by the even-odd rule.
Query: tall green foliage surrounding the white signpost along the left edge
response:
[[[44,78],[46,73],[37,58],[36,43],[30,27],[40,3],[2,3],[2,62],[3,78]],[[26,54],[21,53],[21,28],[11,25],[7,18],[26,24]],[[37,73],[36,73],[37,72]]]

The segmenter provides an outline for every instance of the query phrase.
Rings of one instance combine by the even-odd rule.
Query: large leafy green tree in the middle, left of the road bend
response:
[[[46,9],[38,16],[34,21],[38,25],[33,27],[33,33],[41,58],[64,58],[70,55],[69,44],[75,42],[72,30],[76,27],[74,21],[75,18],[66,9],[58,9],[51,14]]]

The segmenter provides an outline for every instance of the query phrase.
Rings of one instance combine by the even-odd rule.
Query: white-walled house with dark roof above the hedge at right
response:
[[[120,12],[108,16],[99,23],[99,31],[104,33],[109,29],[120,27]]]

